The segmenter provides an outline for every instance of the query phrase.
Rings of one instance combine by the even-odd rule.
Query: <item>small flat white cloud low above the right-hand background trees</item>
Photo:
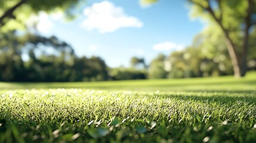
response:
[[[155,49],[156,51],[180,51],[184,49],[184,46],[174,42],[162,42],[153,45],[153,49]]]

